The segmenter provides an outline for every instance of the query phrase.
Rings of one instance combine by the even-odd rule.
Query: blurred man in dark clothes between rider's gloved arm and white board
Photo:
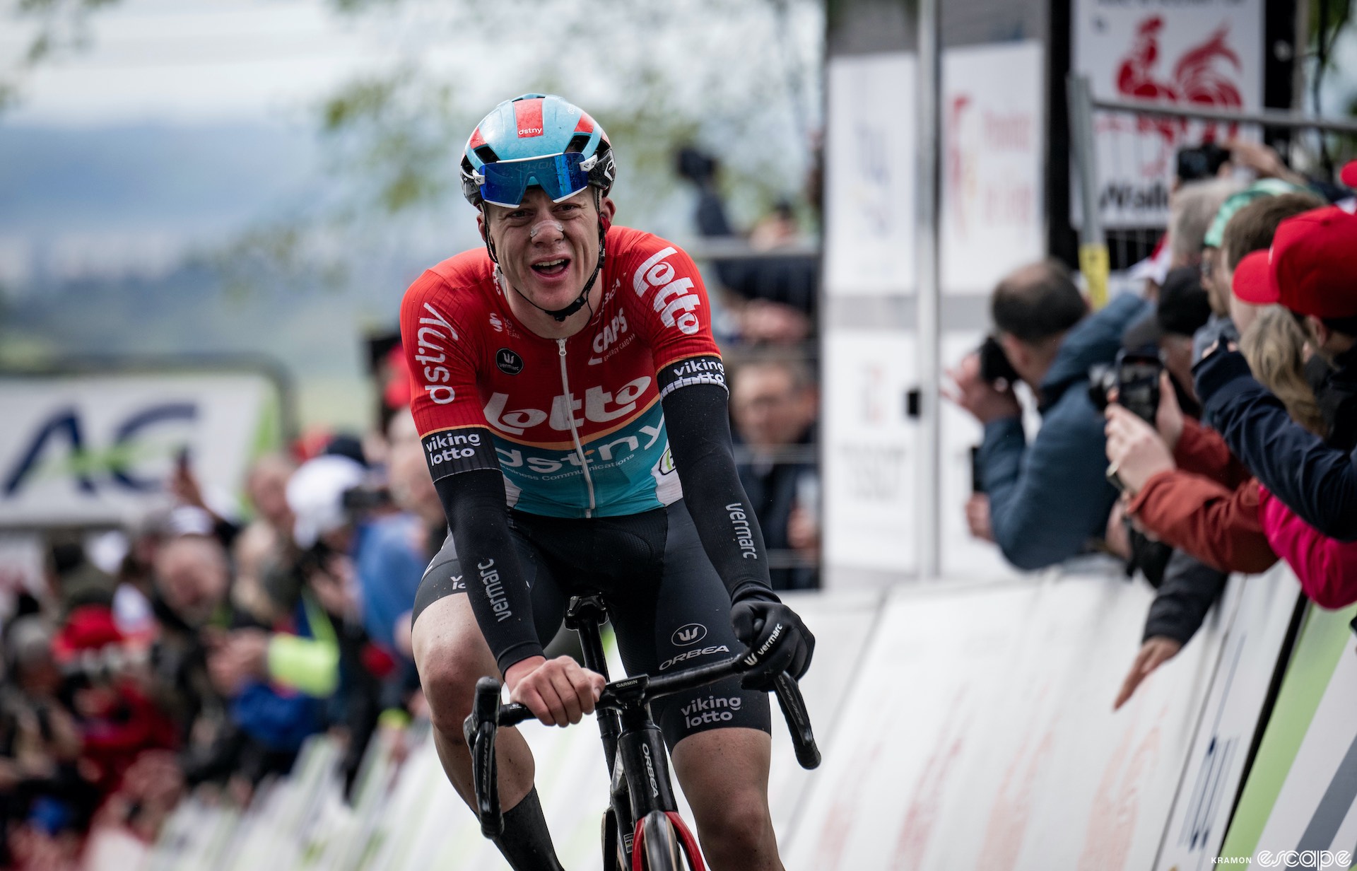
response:
[[[801,360],[767,357],[750,360],[730,376],[730,417],[735,423],[735,468],[764,530],[769,558],[794,552],[795,525],[810,526],[811,545],[816,506],[799,498],[816,488],[814,423],[818,395],[810,368]],[[814,551],[802,551],[814,556]],[[818,586],[814,566],[769,567],[772,589],[801,590]]]

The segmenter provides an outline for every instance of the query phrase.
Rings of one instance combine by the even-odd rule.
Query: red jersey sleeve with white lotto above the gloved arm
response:
[[[650,343],[661,399],[691,384],[726,388],[721,349],[711,335],[707,288],[683,248],[643,236],[628,252],[623,293]]]

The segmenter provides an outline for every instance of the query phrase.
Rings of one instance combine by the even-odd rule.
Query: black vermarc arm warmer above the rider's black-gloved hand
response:
[[[664,396],[669,450],[684,501],[731,601],[750,596],[780,601],[768,582],[759,518],[735,472],[725,385],[685,384]]]

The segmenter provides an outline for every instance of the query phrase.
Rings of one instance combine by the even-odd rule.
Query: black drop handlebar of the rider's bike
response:
[[[715,684],[744,672],[740,657],[699,666],[677,674],[660,677],[638,676],[613,681],[604,686],[596,708],[620,710],[627,704],[649,704],[655,699],[672,696],[685,689]],[[499,704],[499,681],[482,677],[476,681],[476,696],[461,726],[467,746],[471,749],[471,776],[476,788],[476,815],[480,818],[480,833],[498,837],[503,832],[503,814],[499,809],[499,781],[495,769],[495,731],[501,726],[517,726],[533,719],[528,705],[518,703]],[[810,729],[810,714],[801,695],[797,678],[779,674],[773,680],[773,693],[778,707],[787,720],[791,743],[797,752],[797,762],[811,769],[820,765],[820,748]]]

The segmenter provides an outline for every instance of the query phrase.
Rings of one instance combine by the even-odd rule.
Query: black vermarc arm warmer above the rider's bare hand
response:
[[[489,431],[487,444],[489,444]],[[532,598],[509,528],[505,479],[498,468],[446,475],[434,482],[457,545],[476,625],[499,672],[541,657],[532,621]]]

